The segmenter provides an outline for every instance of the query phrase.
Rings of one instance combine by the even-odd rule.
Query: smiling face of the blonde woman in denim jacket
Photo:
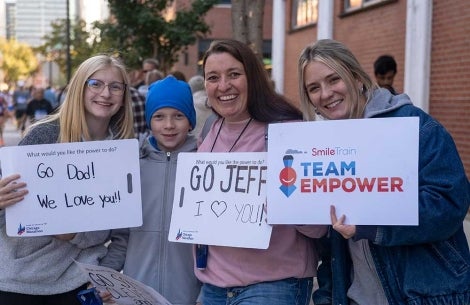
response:
[[[310,103],[324,118],[349,118],[352,97],[335,71],[322,62],[312,61],[305,67],[304,79]]]

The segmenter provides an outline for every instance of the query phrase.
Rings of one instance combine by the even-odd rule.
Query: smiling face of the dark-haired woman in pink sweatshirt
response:
[[[248,82],[243,64],[229,53],[213,53],[207,57],[204,72],[212,108],[229,122],[248,119]]]

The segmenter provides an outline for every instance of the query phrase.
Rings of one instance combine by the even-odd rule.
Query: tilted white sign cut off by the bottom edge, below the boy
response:
[[[171,305],[153,288],[113,269],[78,264],[98,291],[108,291],[116,305]],[[184,292],[182,292],[184,293]]]

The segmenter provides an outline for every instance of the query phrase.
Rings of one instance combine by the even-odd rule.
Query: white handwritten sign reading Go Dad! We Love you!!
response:
[[[3,176],[19,173],[29,191],[6,209],[9,236],[142,224],[135,139],[4,147],[0,162]]]

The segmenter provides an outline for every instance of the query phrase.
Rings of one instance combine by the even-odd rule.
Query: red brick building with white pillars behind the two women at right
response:
[[[186,55],[192,73],[208,41],[231,37],[229,18],[230,6],[209,12],[211,35]],[[297,60],[307,44],[322,38],[341,41],[371,76],[379,55],[393,55],[398,65],[394,87],[446,127],[470,177],[470,1],[266,1],[264,31],[272,45],[276,88],[297,104]],[[470,238],[470,213],[466,227]]]

